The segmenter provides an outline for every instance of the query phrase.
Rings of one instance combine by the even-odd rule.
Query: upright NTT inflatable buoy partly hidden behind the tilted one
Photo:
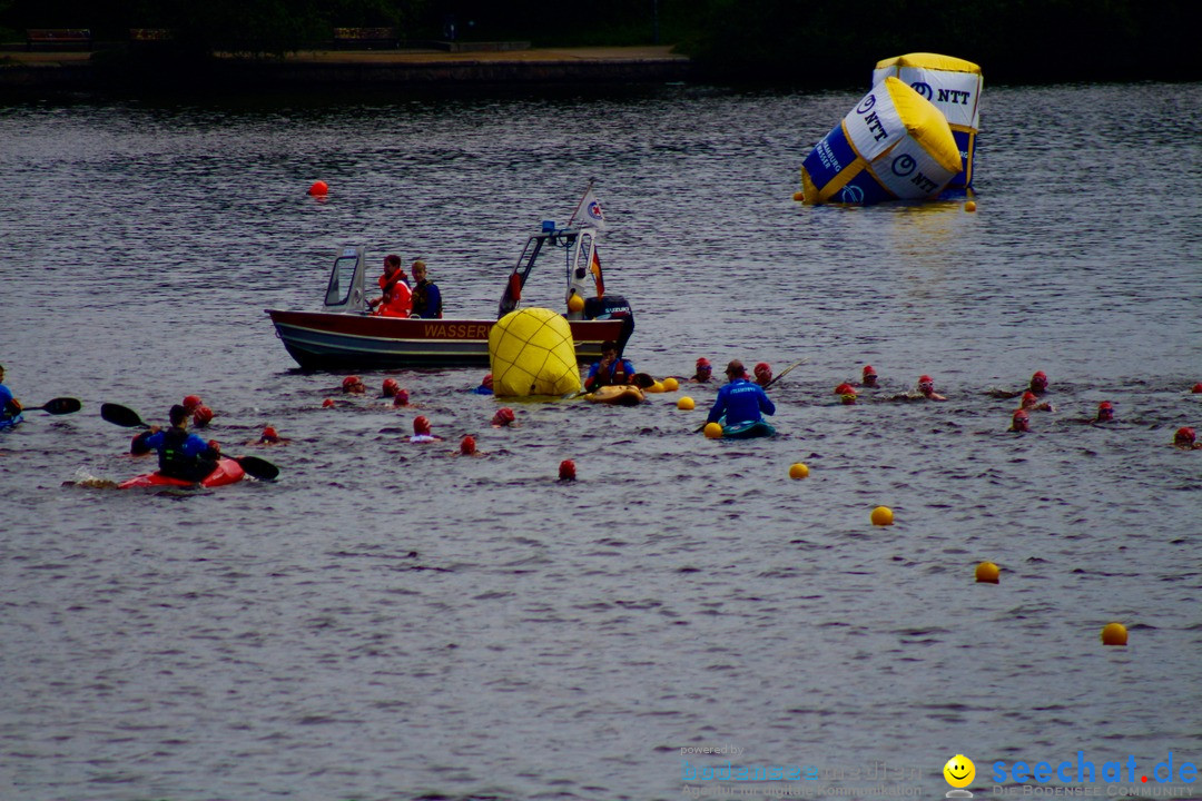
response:
[[[972,156],[976,154],[976,135],[981,130],[981,89],[984,85],[981,67],[951,55],[909,53],[877,61],[873,70],[873,84],[889,76],[944,113],[960,151],[960,172],[952,178],[948,187],[972,186]]]

